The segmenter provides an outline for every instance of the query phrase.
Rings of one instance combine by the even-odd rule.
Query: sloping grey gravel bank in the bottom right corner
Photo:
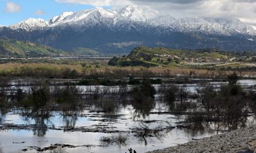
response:
[[[175,152],[256,152],[256,127],[241,128],[236,131],[193,140],[191,142],[148,153],[175,153]]]

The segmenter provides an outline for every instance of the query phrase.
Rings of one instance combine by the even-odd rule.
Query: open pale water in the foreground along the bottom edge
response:
[[[100,145],[99,140],[101,136],[111,136],[106,133],[82,133],[82,132],[66,132],[49,130],[44,137],[33,136],[31,131],[8,131],[1,132],[0,142],[3,145],[4,152],[18,152],[26,146],[41,146],[48,147],[54,143],[66,143],[74,145]],[[202,138],[209,135],[200,135],[193,138]],[[179,129],[173,129],[163,137],[161,140],[157,138],[147,138],[148,145],[145,146],[144,142],[139,142],[138,138],[133,135],[129,136],[129,142],[126,147],[118,148],[115,145],[109,147],[92,147],[90,149],[86,147],[77,147],[70,150],[70,152],[127,152],[128,148],[135,149],[137,152],[147,152],[154,149],[163,149],[165,147],[174,146],[180,143],[186,143],[191,141],[192,138],[184,131]],[[13,143],[13,142],[25,142],[25,143]],[[33,151],[32,151],[33,152]],[[34,150],[35,152],[35,150]]]

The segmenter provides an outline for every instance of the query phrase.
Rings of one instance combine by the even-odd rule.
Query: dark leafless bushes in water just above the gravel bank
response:
[[[248,113],[246,106],[254,101],[252,91],[244,91],[241,85],[236,84],[236,73],[229,75],[228,80],[229,83],[221,85],[220,89],[208,85],[198,90],[198,95],[205,110],[209,113],[208,119],[210,120],[230,122],[237,117],[246,116]]]

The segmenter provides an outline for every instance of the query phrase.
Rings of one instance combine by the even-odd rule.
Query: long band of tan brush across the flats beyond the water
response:
[[[87,64],[86,64],[87,65]],[[124,78],[124,77],[202,77],[220,78],[227,77],[233,73],[234,69],[206,69],[169,67],[116,67],[106,66],[99,63],[91,63],[84,66],[79,62],[75,63],[6,63],[0,64],[0,77],[34,77],[34,78]],[[191,73],[193,72],[193,73]],[[193,75],[191,75],[193,74]],[[253,77],[256,71],[248,69],[238,69],[237,75]]]

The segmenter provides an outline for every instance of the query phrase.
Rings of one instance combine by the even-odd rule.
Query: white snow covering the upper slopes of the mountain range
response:
[[[174,18],[168,13],[152,10],[147,6],[128,5],[118,10],[94,8],[77,12],[67,11],[60,16],[45,21],[42,18],[29,18],[18,24],[10,26],[12,29],[25,29],[33,31],[51,27],[86,28],[94,25],[109,27],[111,29],[131,29],[143,25],[144,27],[163,27],[168,31],[184,33],[202,32],[205,34],[244,34],[256,35],[256,27],[247,25],[241,20],[232,18],[204,18],[182,17]]]

